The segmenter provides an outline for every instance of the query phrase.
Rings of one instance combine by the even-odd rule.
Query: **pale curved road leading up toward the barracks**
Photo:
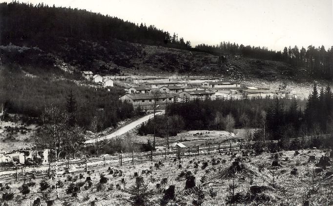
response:
[[[158,111],[158,112],[155,112],[155,115],[161,115],[161,114],[164,114],[164,113],[165,113],[165,111]],[[129,124],[126,124],[123,127],[120,127],[119,129],[117,129],[116,131],[112,132],[111,134],[106,135],[104,137],[101,137],[99,141],[101,141],[101,140],[107,140],[107,139],[111,139],[111,138],[123,135],[126,132],[130,131],[131,129],[139,126],[140,124],[142,124],[144,122],[147,122],[149,119],[151,119],[153,117],[154,117],[154,114],[149,114],[149,115],[146,115],[144,117],[141,117],[140,119],[137,119],[137,120],[135,120],[135,121],[133,121],[133,122],[131,122]],[[95,142],[95,140],[91,139],[91,140],[85,141],[85,144],[92,144],[94,142]]]

